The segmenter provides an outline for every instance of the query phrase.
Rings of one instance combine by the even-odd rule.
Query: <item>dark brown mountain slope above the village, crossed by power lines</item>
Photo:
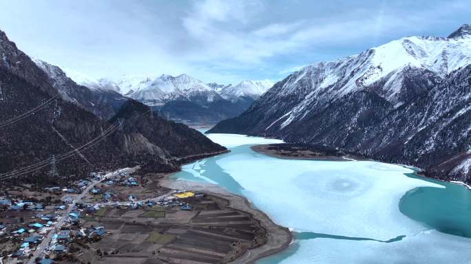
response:
[[[83,177],[90,170],[137,164],[174,171],[187,156],[225,150],[198,131],[158,118],[134,100],[123,104],[109,122],[101,120],[72,96],[63,99],[75,94],[67,90],[72,86],[56,80],[69,80],[50,78],[1,31],[0,58],[2,182],[45,184]],[[47,173],[51,155],[59,177]]]

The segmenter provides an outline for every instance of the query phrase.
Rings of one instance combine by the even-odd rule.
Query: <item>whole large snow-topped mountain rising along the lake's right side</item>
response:
[[[471,25],[308,65],[209,133],[341,148],[469,183]]]

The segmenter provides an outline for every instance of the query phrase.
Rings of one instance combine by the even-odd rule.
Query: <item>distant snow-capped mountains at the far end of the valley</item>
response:
[[[250,107],[273,83],[244,80],[238,85],[203,83],[187,74],[122,76],[116,80],[91,80],[71,72],[70,77],[85,87],[108,93],[119,92],[152,107],[160,115],[178,122],[210,124],[234,117]]]

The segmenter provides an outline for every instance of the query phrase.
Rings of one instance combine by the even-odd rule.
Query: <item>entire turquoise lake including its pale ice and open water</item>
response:
[[[209,134],[231,153],[172,177],[218,184],[291,228],[287,250],[258,263],[470,263],[471,192],[370,161],[278,159],[250,146],[280,142]]]

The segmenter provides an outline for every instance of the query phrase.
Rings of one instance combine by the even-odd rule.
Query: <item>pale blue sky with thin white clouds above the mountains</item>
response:
[[[91,78],[280,80],[403,36],[448,36],[463,23],[469,0],[0,0],[0,30],[21,50]]]

